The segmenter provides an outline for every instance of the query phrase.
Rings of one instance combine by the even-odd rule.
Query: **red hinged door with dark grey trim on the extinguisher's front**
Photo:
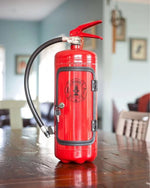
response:
[[[96,84],[91,67],[60,67],[56,73],[56,138],[61,145],[86,146],[96,138]],[[56,118],[57,118],[56,117]]]

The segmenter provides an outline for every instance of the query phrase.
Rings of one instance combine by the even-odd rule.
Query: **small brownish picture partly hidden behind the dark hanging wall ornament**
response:
[[[126,40],[126,20],[121,18],[120,24],[116,27],[116,40],[125,41]]]

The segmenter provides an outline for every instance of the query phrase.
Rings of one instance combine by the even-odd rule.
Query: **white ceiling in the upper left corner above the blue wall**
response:
[[[66,0],[0,0],[0,19],[39,21]]]

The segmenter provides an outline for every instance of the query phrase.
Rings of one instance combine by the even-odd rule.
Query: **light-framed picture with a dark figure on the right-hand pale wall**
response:
[[[130,39],[130,59],[138,61],[145,61],[147,59],[147,39]]]

